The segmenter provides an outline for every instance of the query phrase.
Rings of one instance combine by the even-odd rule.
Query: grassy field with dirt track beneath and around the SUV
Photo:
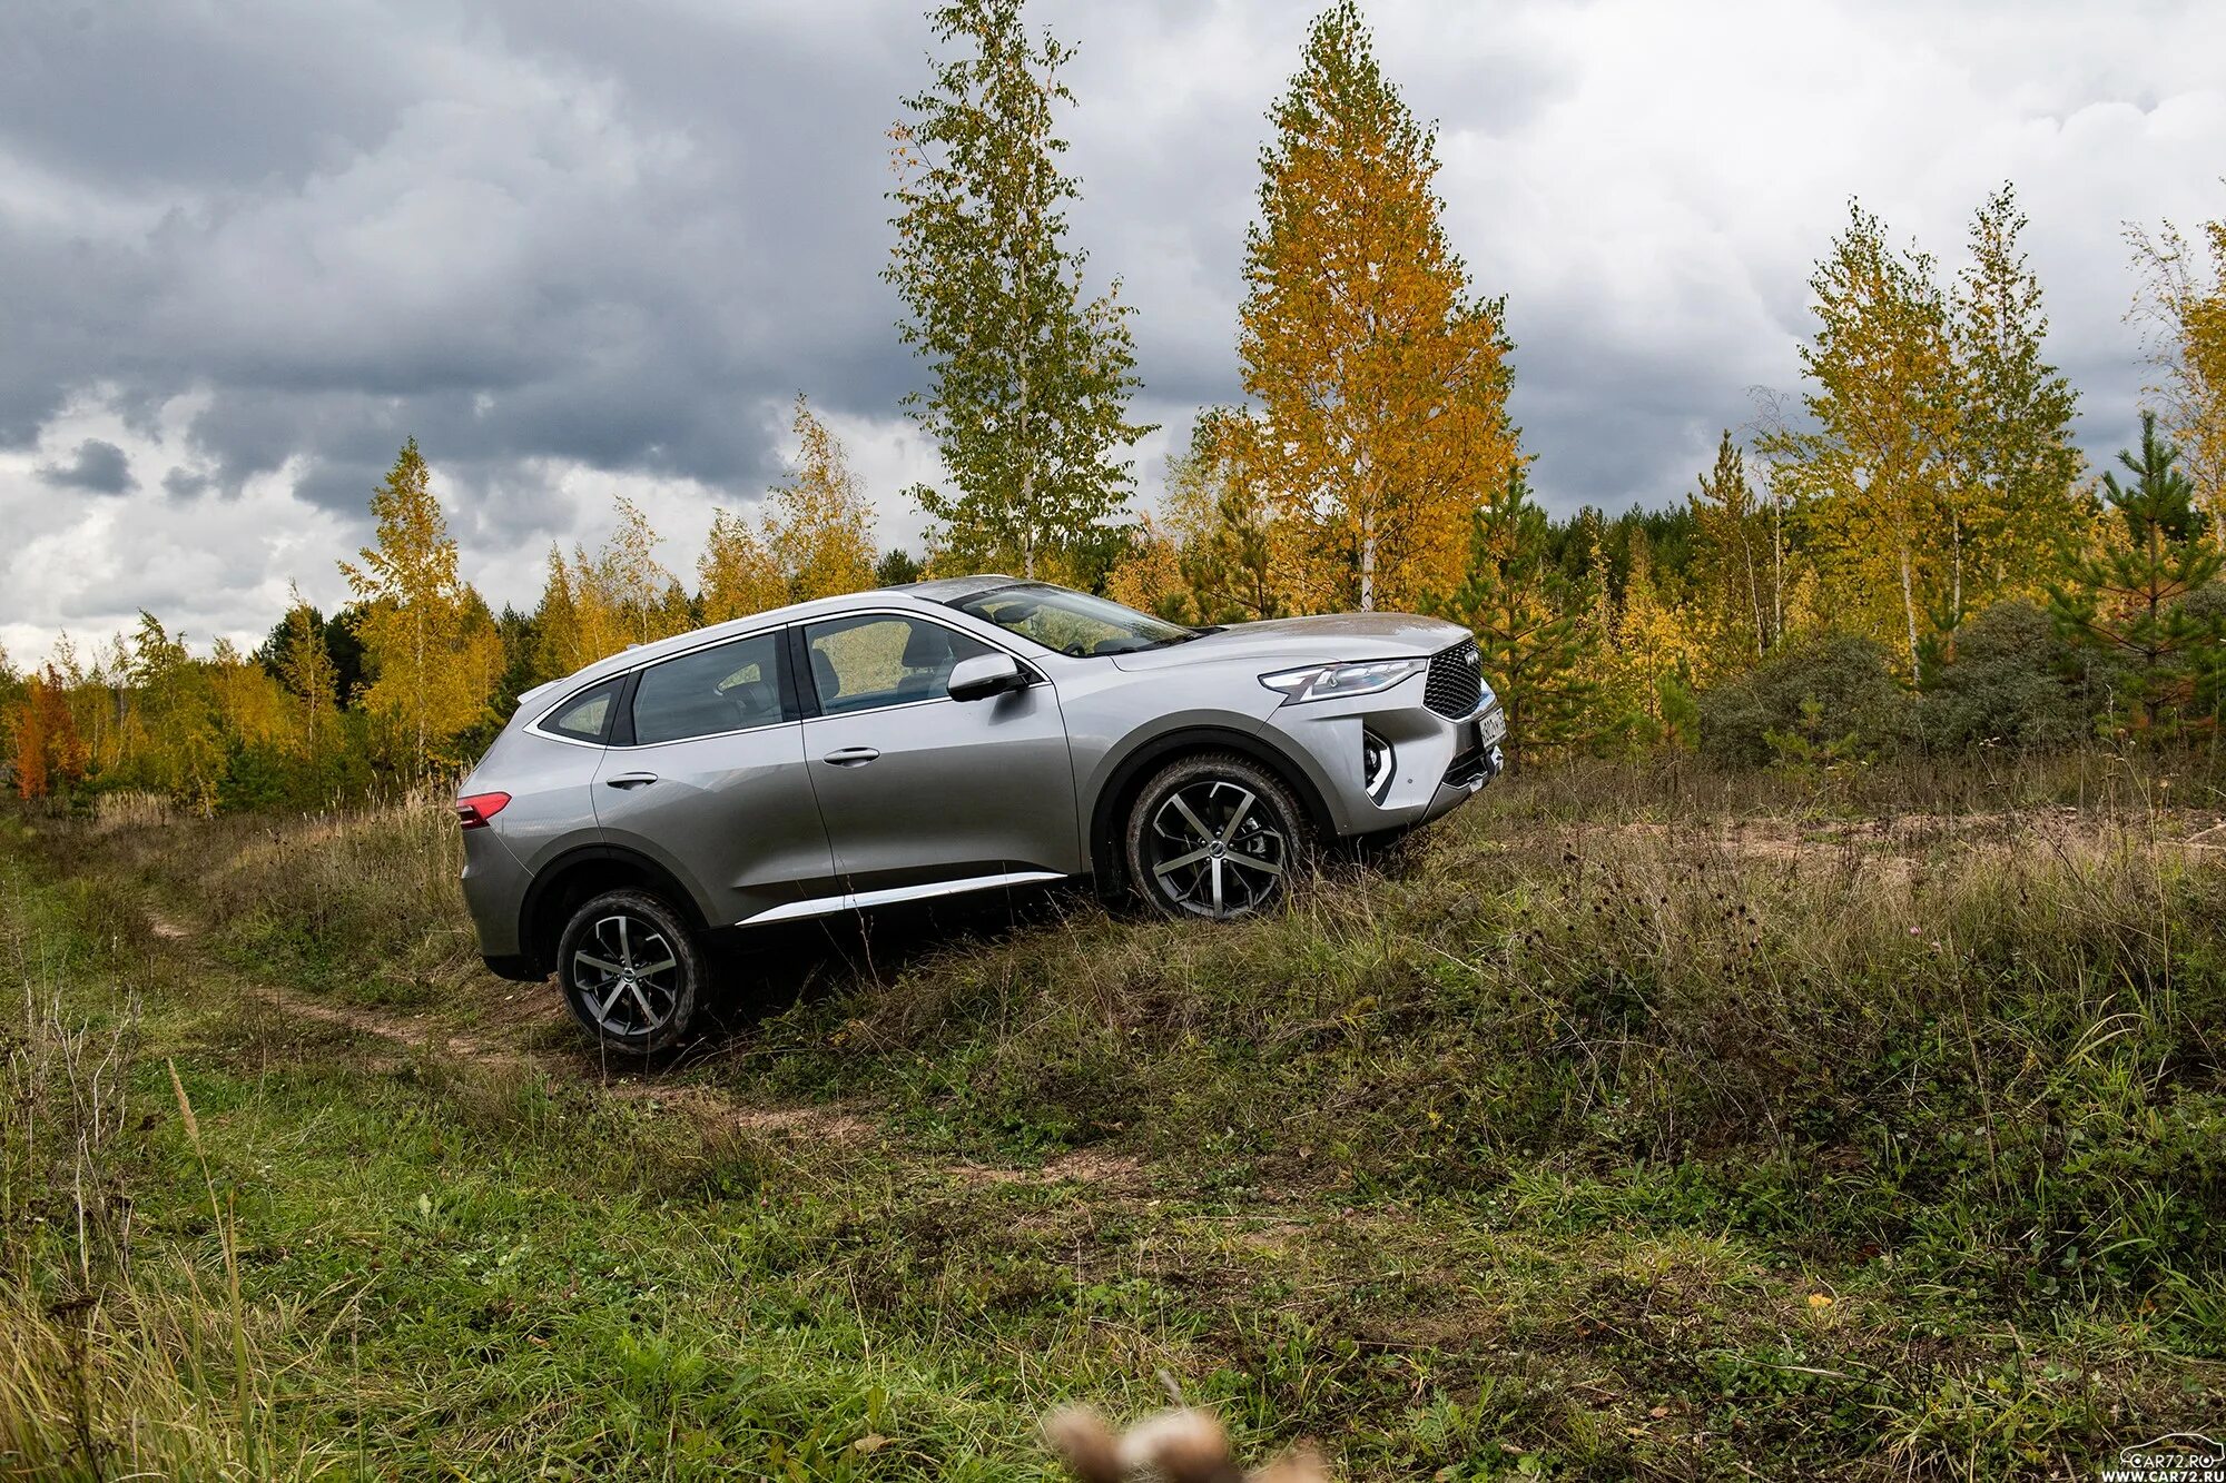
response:
[[[0,1476],[2092,1479],[2226,1430],[2226,799],[1496,786],[1235,929],[768,933],[670,1064],[441,811],[0,822]]]

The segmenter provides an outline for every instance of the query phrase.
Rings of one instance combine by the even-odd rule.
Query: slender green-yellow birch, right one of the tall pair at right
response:
[[[2037,595],[2046,559],[2088,517],[2072,490],[2084,463],[2072,443],[2079,394],[2043,359],[2048,316],[2017,247],[2023,227],[2017,191],[2003,185],[1972,218],[1970,263],[1952,296],[1959,490],[1948,532],[1948,626],[1999,597]]]

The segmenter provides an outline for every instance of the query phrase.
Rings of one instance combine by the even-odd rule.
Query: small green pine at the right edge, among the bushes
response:
[[[2208,724],[2197,688],[2226,646],[2219,612],[2184,601],[2219,574],[2226,554],[2204,539],[2195,483],[2177,459],[2179,450],[2157,432],[2157,414],[2141,412],[2141,452],[2117,454],[2133,485],[2117,474],[2101,479],[2124,539],[2079,559],[2050,603],[2068,639],[2099,650],[2106,668],[2121,668],[2115,719],[2148,742]]]

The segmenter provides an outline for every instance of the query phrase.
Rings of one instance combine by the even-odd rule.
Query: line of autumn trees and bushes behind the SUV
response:
[[[516,697],[670,632],[788,601],[1011,570],[1191,623],[1407,608],[1467,623],[1518,762],[1705,748],[1836,766],[1897,748],[2215,753],[2226,706],[2226,218],[2130,227],[2155,385],[2121,468],[2072,441],[2012,185],[1948,265],[1850,203],[1810,278],[1801,387],[1723,432],[1665,510],[1552,519],[1507,412],[1516,347],[1442,225],[1434,129],[1360,7],[1307,38],[1269,114],[1235,325],[1242,401],[1206,407],[1133,512],[1135,310],[1089,289],[1066,205],[1073,51],[1020,0],[930,11],[939,56],[890,129],[886,278],[948,488],[884,550],[835,432],[752,514],[710,512],[692,572],[617,501],[552,548],[532,610],[490,603],[432,463],[372,494],[352,601],[298,599],[247,652],[158,615],[91,652],[0,655],[20,797],[154,790],[191,808],[323,806],[450,775]],[[1723,419],[1734,421],[1732,416]],[[690,581],[692,579],[692,581]]]

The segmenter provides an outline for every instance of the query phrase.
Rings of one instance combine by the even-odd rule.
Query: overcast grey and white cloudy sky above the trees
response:
[[[1373,0],[1440,125],[1447,225],[1507,296],[1554,510],[1692,488],[1747,387],[1796,387],[1850,196],[1950,263],[2003,178],[2084,401],[2144,383],[2121,223],[2226,214],[2226,4]],[[1264,114],[1309,9],[1031,7],[1080,45],[1091,274],[1137,307],[1144,499],[1238,394]],[[530,603],[552,539],[643,503],[690,574],[806,392],[913,543],[922,367],[879,281],[915,4],[0,4],[0,644],[149,608],[196,650],[345,588],[405,436],[465,574]]]

